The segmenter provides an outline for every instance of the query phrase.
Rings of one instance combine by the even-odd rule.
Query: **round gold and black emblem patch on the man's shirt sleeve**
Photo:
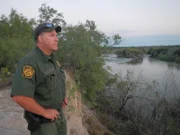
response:
[[[22,73],[22,76],[24,77],[24,78],[32,78],[32,76],[34,75],[34,72],[35,72],[35,70],[34,70],[34,68],[32,67],[32,66],[24,66],[23,67],[23,73]]]

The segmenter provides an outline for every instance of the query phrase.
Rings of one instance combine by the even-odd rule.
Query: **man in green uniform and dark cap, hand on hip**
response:
[[[34,32],[37,45],[20,60],[14,76],[12,99],[26,113],[33,114],[30,116],[47,120],[36,126],[34,119],[27,118],[31,135],[66,135],[67,132],[62,111],[62,106],[67,105],[65,74],[53,53],[58,50],[57,33],[60,31],[60,26],[40,24]],[[31,126],[36,128],[31,130]]]

